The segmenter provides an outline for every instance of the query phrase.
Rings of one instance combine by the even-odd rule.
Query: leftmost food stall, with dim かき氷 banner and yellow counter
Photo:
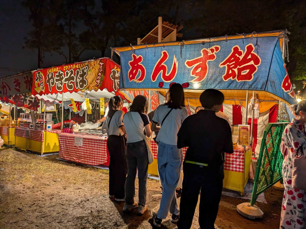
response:
[[[15,145],[14,133],[19,126],[16,107],[35,111],[39,109],[39,100],[29,96],[31,89],[31,71],[1,79],[0,102],[9,106],[9,118],[2,119],[0,127],[0,136],[6,145]]]

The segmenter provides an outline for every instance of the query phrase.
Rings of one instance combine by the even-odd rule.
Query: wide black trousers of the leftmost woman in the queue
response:
[[[125,197],[125,179],[128,173],[125,158],[124,136],[110,135],[107,138],[107,148],[110,154],[109,194],[117,199]]]

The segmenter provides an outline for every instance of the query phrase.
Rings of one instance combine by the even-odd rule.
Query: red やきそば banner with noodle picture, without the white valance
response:
[[[33,72],[32,95],[107,89],[119,95],[120,66],[109,58]]]

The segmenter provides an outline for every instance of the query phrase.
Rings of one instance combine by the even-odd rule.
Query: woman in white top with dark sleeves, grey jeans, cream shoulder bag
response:
[[[138,95],[134,98],[129,111],[124,115],[123,122],[126,128],[125,157],[128,165],[128,176],[125,181],[124,212],[137,208],[137,215],[143,215],[147,210],[147,178],[148,178],[148,151],[144,137],[150,137],[150,121],[147,115],[147,98]],[[145,135],[144,135],[145,130]],[[138,170],[138,204],[134,202],[135,179]]]

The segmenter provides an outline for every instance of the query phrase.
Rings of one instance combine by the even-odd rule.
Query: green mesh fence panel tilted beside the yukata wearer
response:
[[[289,122],[269,123],[263,132],[260,146],[251,205],[262,192],[282,179],[282,163],[284,157],[280,150],[282,134]]]

